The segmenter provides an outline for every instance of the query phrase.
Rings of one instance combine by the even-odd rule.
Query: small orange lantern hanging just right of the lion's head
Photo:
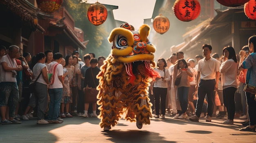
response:
[[[170,22],[167,17],[159,14],[153,20],[153,27],[157,33],[164,34],[169,30]]]

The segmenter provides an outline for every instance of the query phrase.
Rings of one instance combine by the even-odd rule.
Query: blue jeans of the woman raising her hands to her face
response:
[[[186,109],[188,108],[189,103],[189,88],[190,87],[178,87],[178,93],[179,93],[179,99],[180,99],[180,107],[181,107],[181,113],[186,112]]]

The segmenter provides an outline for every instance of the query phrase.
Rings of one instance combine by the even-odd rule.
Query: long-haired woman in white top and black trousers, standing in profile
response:
[[[227,46],[223,48],[223,62],[220,65],[220,73],[222,73],[221,83],[223,87],[224,105],[227,107],[228,119],[222,124],[234,124],[235,115],[235,92],[237,89],[237,69],[238,61],[236,52],[233,47]]]

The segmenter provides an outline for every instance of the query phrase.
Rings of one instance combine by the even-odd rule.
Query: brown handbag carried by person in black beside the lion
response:
[[[92,68],[91,68],[91,71],[92,71]],[[92,73],[92,77],[94,77],[93,73]],[[96,83],[94,80],[93,80],[93,82],[96,87]],[[85,88],[85,92],[84,92],[84,94],[85,94],[84,102],[85,103],[96,103],[98,93],[99,93],[99,91],[96,88],[88,88],[88,86],[87,86]]]

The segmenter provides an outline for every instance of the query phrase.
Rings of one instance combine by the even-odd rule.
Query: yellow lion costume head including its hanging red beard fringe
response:
[[[153,53],[156,48],[148,40],[149,32],[150,27],[147,24],[143,24],[137,31],[132,31],[132,26],[126,23],[114,28],[108,37],[108,41],[113,43],[112,57],[124,63],[131,81],[135,79],[133,74],[135,70],[132,67],[136,65],[137,68],[141,63],[144,64],[146,74],[153,78],[157,75],[152,69],[155,67]]]

